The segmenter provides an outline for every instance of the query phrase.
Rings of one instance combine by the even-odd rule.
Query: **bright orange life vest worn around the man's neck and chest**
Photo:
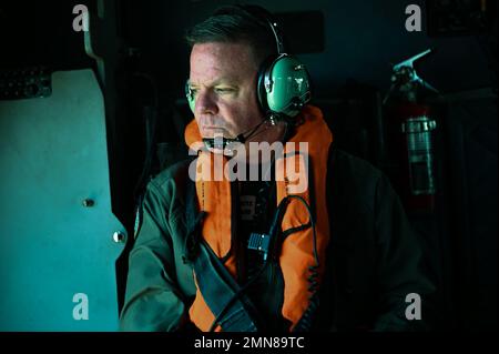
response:
[[[289,181],[289,173],[286,168],[289,163],[296,168],[304,168],[304,151],[299,151],[299,142],[308,143],[308,166],[305,178],[312,178],[314,200],[310,200],[310,184],[302,193],[293,193],[302,196],[312,210],[315,210],[316,222],[316,246],[319,260],[319,267],[317,270],[318,280],[320,283],[324,274],[325,253],[329,241],[329,220],[326,205],[326,173],[329,145],[333,142],[333,134],[329,131],[323,114],[318,108],[307,105],[303,112],[296,118],[302,121],[295,130],[294,136],[288,140],[293,144],[286,144],[284,149],[284,158],[276,160],[276,176],[284,175],[284,179],[276,178],[277,204],[289,193],[293,193],[293,180]],[[193,120],[185,130],[185,141],[190,146],[201,145],[201,135],[196,122]],[[214,159],[213,153],[208,151],[198,152],[196,168],[197,171],[203,169],[213,169]],[[226,163],[225,158],[224,165]],[[204,170],[206,171],[206,170]],[[303,170],[302,170],[303,171]],[[197,180],[196,195],[198,208],[206,213],[201,233],[207,244],[212,247],[218,257],[224,257],[230,254],[232,242],[232,212],[233,206],[231,195],[231,182],[223,176],[220,181],[213,179],[214,171],[211,173],[212,179]],[[304,178],[303,173],[299,176]],[[303,181],[299,181],[303,183]],[[306,206],[296,199],[292,199],[285,210],[282,230],[297,227],[307,224],[309,214]],[[279,255],[279,266],[284,279],[284,303],[282,314],[285,318],[292,322],[289,330],[298,323],[305,310],[309,305],[309,270],[316,265],[314,257],[314,242],[313,230],[310,227],[295,232],[287,236],[282,244],[282,252]],[[231,254],[225,263],[225,267],[235,277],[236,260],[235,255]],[[195,274],[194,274],[195,279]],[[215,320],[214,314],[207,306],[203,294],[197,287],[195,300],[190,309],[191,321],[202,331],[208,331]],[[217,331],[223,331],[220,326]]]

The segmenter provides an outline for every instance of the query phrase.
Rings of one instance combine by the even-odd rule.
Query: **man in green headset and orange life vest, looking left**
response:
[[[187,41],[195,120],[185,139],[197,158],[147,186],[121,328],[425,327],[418,306],[432,285],[399,200],[379,171],[334,148],[274,21],[258,8],[223,8]],[[296,94],[279,105],[272,94],[281,78],[265,73],[286,65],[284,91]],[[255,142],[283,148],[265,154],[252,151]],[[233,150],[240,160],[227,170]],[[248,181],[255,164],[262,174]],[[214,179],[221,170],[240,178]]]

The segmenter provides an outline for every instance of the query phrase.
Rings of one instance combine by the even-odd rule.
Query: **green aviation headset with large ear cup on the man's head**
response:
[[[310,100],[310,79],[305,65],[284,50],[283,37],[272,14],[257,6],[238,6],[255,19],[262,19],[271,27],[277,53],[267,58],[257,78],[257,98],[262,111],[271,122],[279,118],[296,117]],[[185,84],[189,105],[194,112],[195,98],[189,81]]]

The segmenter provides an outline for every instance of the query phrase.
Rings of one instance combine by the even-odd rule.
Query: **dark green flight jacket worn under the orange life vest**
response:
[[[327,179],[330,243],[316,331],[428,330],[435,289],[421,271],[422,252],[387,178],[366,161],[337,149]],[[195,295],[185,264],[185,191],[190,161],[164,170],[149,185],[142,223],[129,259],[123,331],[190,327]],[[420,297],[421,320],[408,320]],[[406,302],[406,300],[408,302]],[[413,303],[414,302],[414,303]]]

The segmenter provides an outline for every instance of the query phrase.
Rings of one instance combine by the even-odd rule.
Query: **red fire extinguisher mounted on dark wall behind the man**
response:
[[[396,134],[393,140],[401,168],[398,185],[403,201],[411,211],[427,212],[435,208],[432,132],[437,124],[430,108],[418,102],[418,92],[421,88],[438,91],[417,75],[414,62],[429,52],[426,50],[394,65],[391,88],[384,100],[386,103],[394,99],[388,110],[388,124],[393,124],[391,132]]]

